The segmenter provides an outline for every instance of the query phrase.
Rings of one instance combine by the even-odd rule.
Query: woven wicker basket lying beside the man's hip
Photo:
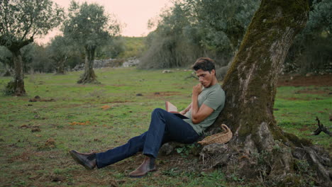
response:
[[[223,132],[205,137],[203,140],[201,140],[198,143],[201,145],[209,145],[213,143],[218,143],[218,144],[227,143],[233,137],[233,133],[225,124],[222,124],[221,128],[223,129]]]

